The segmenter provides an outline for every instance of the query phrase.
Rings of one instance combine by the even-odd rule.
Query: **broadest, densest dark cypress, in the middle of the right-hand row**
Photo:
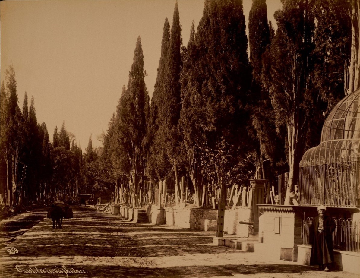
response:
[[[230,182],[226,173],[248,141],[247,134],[239,132],[248,124],[251,79],[242,1],[206,1],[188,55],[193,67],[182,99],[184,136],[197,144],[202,169],[224,189]]]

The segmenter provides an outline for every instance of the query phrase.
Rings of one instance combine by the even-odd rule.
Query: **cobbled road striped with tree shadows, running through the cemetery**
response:
[[[34,218],[32,228],[1,246],[1,277],[358,278],[213,246],[214,232],[131,224],[91,207],[74,206],[73,212],[62,229],[52,229],[45,210],[33,212],[38,223]],[[12,224],[18,223],[7,220],[0,228]],[[12,248],[18,252],[9,254]]]

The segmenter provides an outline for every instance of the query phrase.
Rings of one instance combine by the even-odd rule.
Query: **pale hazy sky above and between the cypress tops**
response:
[[[243,0],[246,25],[251,0]],[[204,0],[178,0],[181,36],[187,45]],[[0,2],[0,80],[13,64],[19,107],[25,91],[35,100],[37,121],[45,122],[52,142],[55,126],[65,121],[85,151],[93,147],[116,111],[127,86],[136,39],[141,37],[145,83],[150,99],[161,52],[163,25],[170,25],[175,0],[48,0]],[[281,7],[267,0],[268,20]]]

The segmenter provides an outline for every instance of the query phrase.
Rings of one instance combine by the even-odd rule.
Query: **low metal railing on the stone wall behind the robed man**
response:
[[[313,218],[308,217],[303,223],[303,245],[311,245],[309,228],[312,221]],[[332,235],[334,250],[360,253],[360,220],[333,217],[333,221],[336,223],[336,229]]]

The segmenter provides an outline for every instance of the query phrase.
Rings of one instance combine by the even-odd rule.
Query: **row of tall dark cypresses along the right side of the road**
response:
[[[158,181],[172,171],[180,190],[186,172],[197,204],[204,175],[225,188],[289,171],[293,190],[302,154],[318,144],[324,117],[344,96],[354,36],[349,11],[358,2],[282,3],[275,33],[265,0],[253,0],[250,58],[242,1],[206,0],[186,47],[176,3],[171,28],[167,19],[163,27],[151,105],[138,38],[105,136],[103,161],[113,181],[128,180],[136,196],[145,176]]]

